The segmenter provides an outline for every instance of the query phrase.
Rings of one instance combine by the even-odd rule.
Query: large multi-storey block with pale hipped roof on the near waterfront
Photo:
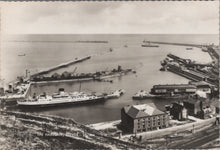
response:
[[[128,105],[121,109],[122,128],[129,133],[165,128],[168,121],[168,114],[158,110],[153,103]]]

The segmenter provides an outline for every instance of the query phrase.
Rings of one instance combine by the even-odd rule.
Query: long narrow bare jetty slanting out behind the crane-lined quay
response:
[[[82,57],[82,58],[76,58],[75,60],[71,60],[69,62],[62,63],[62,64],[59,64],[57,66],[54,66],[54,67],[42,70],[42,71],[40,71],[38,73],[35,73],[35,74],[31,75],[31,77],[42,75],[42,74],[47,74],[49,72],[52,72],[52,71],[55,71],[55,70],[58,70],[58,69],[61,69],[61,68],[64,68],[64,67],[68,67],[68,66],[70,66],[72,64],[83,62],[83,61],[88,60],[90,58],[91,58],[91,56],[86,56],[86,57]]]

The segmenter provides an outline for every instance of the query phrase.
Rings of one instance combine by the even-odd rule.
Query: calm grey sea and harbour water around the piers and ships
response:
[[[103,40],[108,41],[108,43],[74,42],[79,40]],[[188,83],[188,80],[183,77],[170,72],[159,71],[160,61],[168,53],[200,63],[210,62],[211,58],[200,49],[194,48],[189,51],[184,46],[160,45],[159,48],[143,48],[141,47],[143,40],[218,44],[218,35],[11,35],[7,36],[2,42],[1,76],[4,82],[9,82],[19,75],[24,75],[26,69],[35,73],[76,57],[91,55],[90,60],[56,72],[73,71],[77,67],[76,73],[88,73],[111,70],[118,65],[125,69],[136,69],[136,74],[112,78],[113,83],[95,81],[81,83],[81,91],[101,93],[125,89],[125,95],[104,103],[31,111],[69,117],[88,124],[120,119],[121,108],[129,104],[155,103],[159,109],[164,110],[164,105],[169,104],[171,100],[148,99],[137,101],[131,98],[137,91],[141,89],[149,91],[155,84]],[[113,52],[109,52],[109,48],[113,48]],[[22,54],[26,55],[18,56]],[[79,86],[79,83],[76,82],[40,84],[32,86],[31,93],[46,92],[52,94],[61,87],[69,92],[78,91]]]

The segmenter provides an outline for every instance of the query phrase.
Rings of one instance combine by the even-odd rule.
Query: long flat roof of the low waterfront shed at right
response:
[[[196,88],[195,85],[191,85],[191,84],[165,84],[165,85],[154,85],[153,88],[155,89],[161,89],[161,88],[164,88],[164,89],[174,89],[174,88]]]

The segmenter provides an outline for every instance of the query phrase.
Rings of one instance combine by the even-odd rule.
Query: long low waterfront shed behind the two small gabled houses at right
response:
[[[196,86],[190,84],[154,85],[151,89],[151,93],[155,95],[194,94],[195,92]]]

